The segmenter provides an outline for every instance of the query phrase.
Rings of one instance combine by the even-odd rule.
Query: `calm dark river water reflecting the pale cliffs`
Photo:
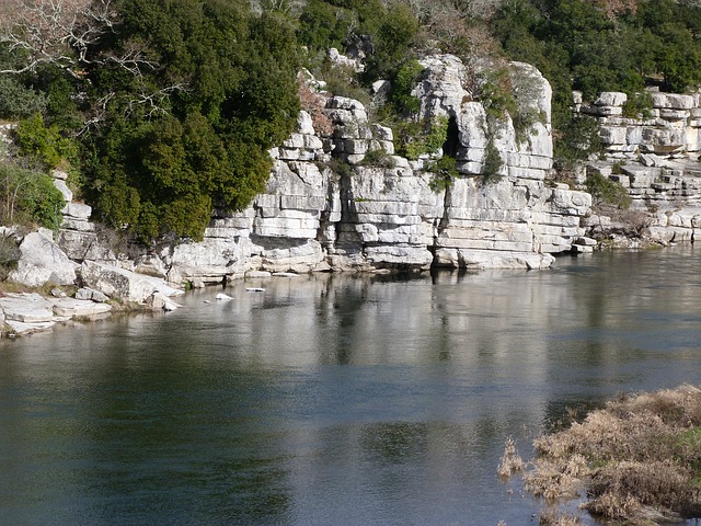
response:
[[[535,525],[506,437],[699,384],[700,250],[253,281],[0,342],[0,524]]]

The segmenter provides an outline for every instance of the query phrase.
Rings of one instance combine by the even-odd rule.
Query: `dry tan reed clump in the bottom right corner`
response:
[[[537,496],[570,499],[584,484],[585,507],[604,518],[701,516],[701,389],[622,397],[535,444],[524,479]]]

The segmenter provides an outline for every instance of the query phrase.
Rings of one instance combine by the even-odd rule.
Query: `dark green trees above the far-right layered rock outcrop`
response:
[[[639,0],[611,11],[609,3],[507,0],[491,21],[506,55],[538,67],[553,87],[561,167],[586,157],[596,142],[588,123],[572,116],[572,90],[588,101],[623,91],[631,101],[627,113],[645,116],[648,101],[635,95],[645,85],[680,92],[701,83],[701,8]]]

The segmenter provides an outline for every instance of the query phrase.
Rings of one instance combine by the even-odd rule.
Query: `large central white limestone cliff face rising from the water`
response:
[[[422,117],[449,122],[446,139],[460,175],[434,191],[424,158],[394,156],[390,128],[371,124],[368,110],[341,96],[324,110],[332,136],[322,137],[301,112],[297,133],[272,151],[265,194],[243,213],[216,214],[199,243],[160,254],[172,281],[221,281],[249,270],[320,271],[448,267],[547,267],[552,253],[583,235],[590,196],[551,186],[550,95],[535,68],[513,65],[519,104],[539,115],[527,134],[506,118],[490,129],[486,111],[462,87],[456,57],[434,56],[415,93]],[[483,183],[489,144],[503,164]],[[382,150],[387,155],[368,152]],[[438,152],[438,155],[440,155]],[[375,159],[369,162],[370,159]],[[333,170],[332,170],[333,167]]]

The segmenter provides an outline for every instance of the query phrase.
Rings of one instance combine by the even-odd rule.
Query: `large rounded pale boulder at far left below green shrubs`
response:
[[[50,233],[27,233],[20,243],[18,267],[10,273],[10,282],[30,287],[47,283],[72,285],[76,282],[76,263],[54,242]]]

